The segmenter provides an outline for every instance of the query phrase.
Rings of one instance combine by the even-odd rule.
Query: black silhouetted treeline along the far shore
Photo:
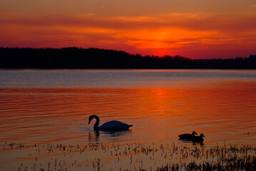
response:
[[[0,68],[256,69],[256,56],[190,59],[182,56],[140,56],[100,48],[0,48]]]

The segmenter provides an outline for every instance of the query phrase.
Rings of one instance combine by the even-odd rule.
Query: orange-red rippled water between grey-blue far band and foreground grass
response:
[[[256,82],[200,88],[0,88],[1,142],[177,142],[204,133],[205,144],[256,140]],[[101,123],[133,124],[128,133],[93,133]],[[250,135],[244,133],[250,132]]]

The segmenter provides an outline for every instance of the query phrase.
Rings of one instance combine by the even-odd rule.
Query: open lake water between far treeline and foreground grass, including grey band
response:
[[[89,115],[133,127],[97,135]],[[256,71],[2,70],[0,122],[2,144],[255,145]]]

